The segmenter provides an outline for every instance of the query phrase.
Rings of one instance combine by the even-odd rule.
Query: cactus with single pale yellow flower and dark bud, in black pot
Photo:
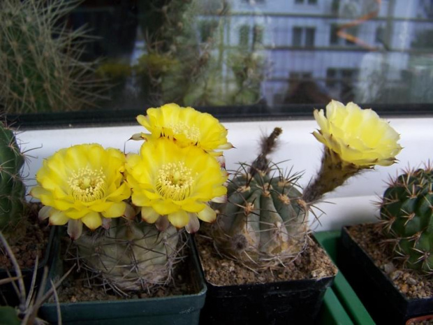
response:
[[[314,322],[335,275],[332,264],[319,268],[314,263],[326,257],[315,259],[311,253],[308,216],[314,204],[349,177],[376,164],[393,164],[401,150],[397,132],[373,110],[332,101],[326,116],[315,110],[314,117],[321,129],[313,134],[325,150],[320,171],[303,193],[297,184],[300,174],[286,173],[267,158],[281,133],[278,128],[263,138],[256,160],[240,164],[228,183],[228,201],[216,207],[217,222],[207,227],[207,238],[222,257],[198,241],[208,285],[201,315],[205,324]],[[210,263],[213,256],[217,266]],[[289,281],[297,275],[295,266],[308,263],[314,268],[304,280]],[[258,277],[237,279],[238,266]]]

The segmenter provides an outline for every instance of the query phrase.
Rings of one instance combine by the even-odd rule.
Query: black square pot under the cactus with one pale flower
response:
[[[197,252],[196,245],[194,250]],[[200,270],[205,277],[204,270]],[[200,324],[314,324],[325,291],[334,277],[265,284],[217,286],[205,283],[207,294]]]

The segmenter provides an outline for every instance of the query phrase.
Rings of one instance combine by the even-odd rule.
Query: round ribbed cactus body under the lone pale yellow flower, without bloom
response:
[[[272,175],[272,172],[277,175]],[[307,242],[308,211],[296,180],[277,171],[242,174],[228,185],[212,237],[223,252],[264,269],[298,257]]]

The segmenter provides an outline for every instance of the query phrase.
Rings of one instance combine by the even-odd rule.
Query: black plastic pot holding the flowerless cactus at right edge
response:
[[[341,241],[339,268],[377,324],[406,324],[413,317],[433,314],[433,297],[406,298],[351,238],[348,227],[342,229]]]

